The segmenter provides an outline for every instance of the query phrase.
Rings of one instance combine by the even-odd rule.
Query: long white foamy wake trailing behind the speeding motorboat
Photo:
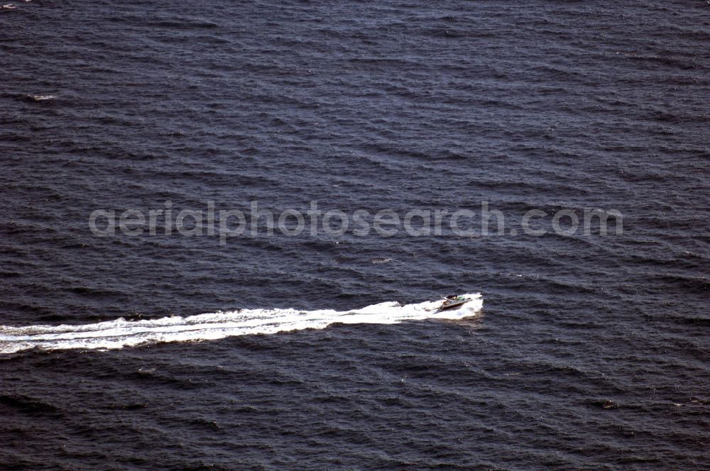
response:
[[[0,353],[30,348],[43,350],[114,349],[158,342],[215,340],[256,333],[277,333],[304,328],[325,328],[332,323],[398,323],[425,318],[460,319],[474,316],[483,307],[481,294],[459,309],[436,314],[441,301],[400,306],[398,302],[373,304],[354,311],[297,311],[296,309],[241,309],[197,316],[170,316],[152,320],[114,321],[80,326],[0,326]]]

